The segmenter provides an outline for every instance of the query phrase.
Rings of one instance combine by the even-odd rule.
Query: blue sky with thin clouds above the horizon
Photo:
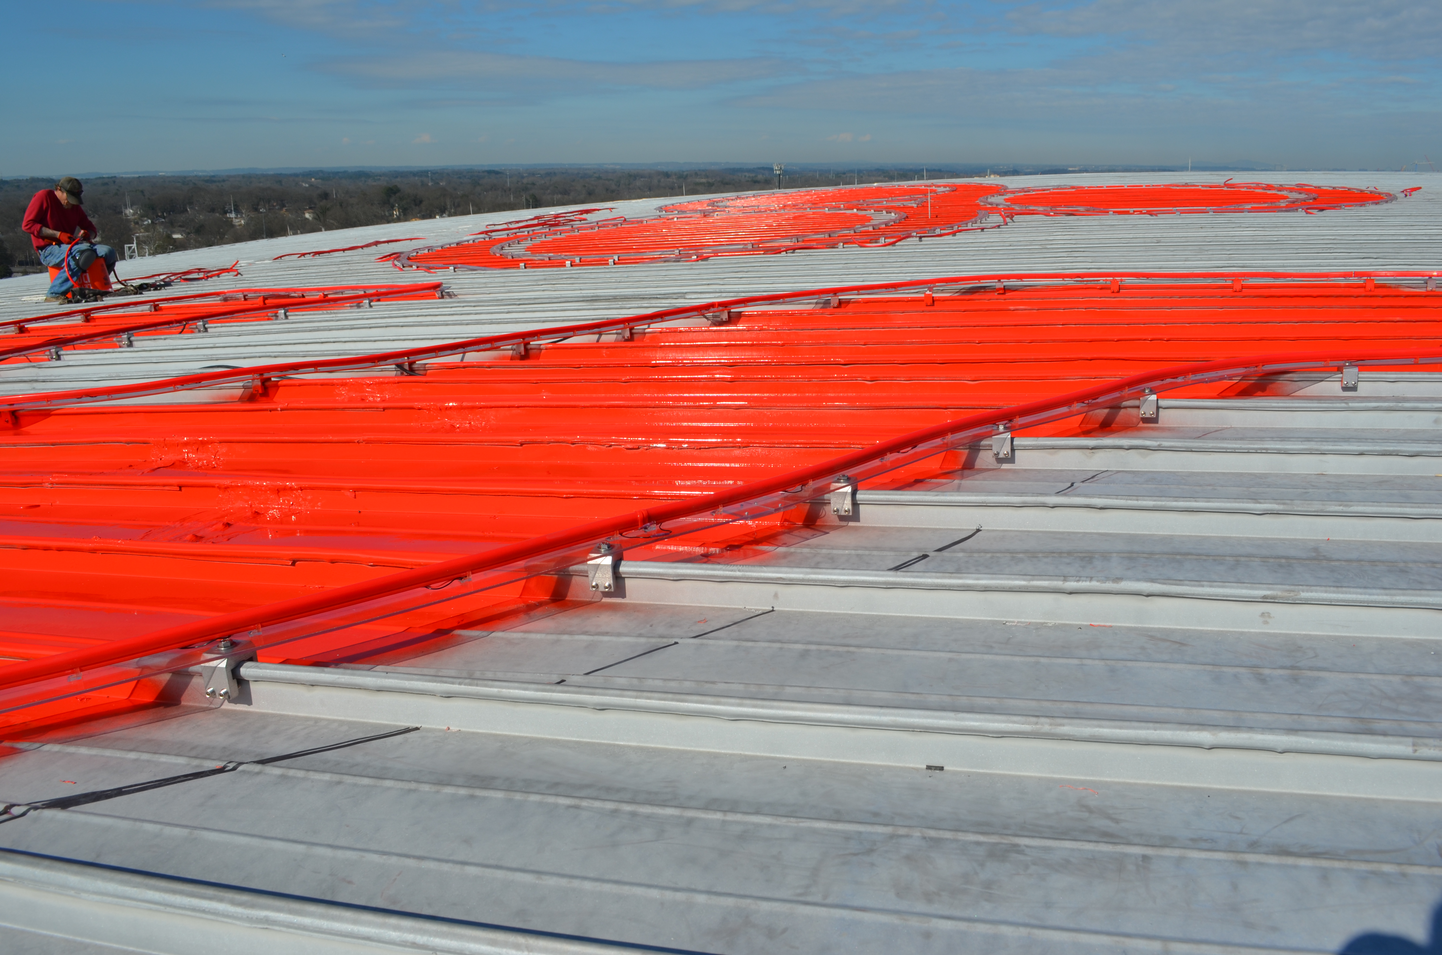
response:
[[[7,9],[12,48],[30,53],[0,66],[12,92],[0,105],[3,176],[552,162],[1442,162],[1442,17],[1422,3]],[[61,36],[59,22],[76,25],[74,36]]]

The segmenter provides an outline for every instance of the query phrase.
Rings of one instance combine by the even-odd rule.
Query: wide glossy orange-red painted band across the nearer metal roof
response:
[[[483,553],[1180,362],[1442,338],[1438,293],[1361,278],[999,291],[741,307],[728,325],[571,339],[415,377],[286,379],[248,402],[26,413],[0,431],[0,656],[40,659]],[[891,486],[959,466],[932,459]],[[675,547],[731,547],[737,532]],[[557,599],[549,586],[476,597],[447,619],[518,612]],[[394,655],[446,639],[443,623],[360,622],[262,659]]]

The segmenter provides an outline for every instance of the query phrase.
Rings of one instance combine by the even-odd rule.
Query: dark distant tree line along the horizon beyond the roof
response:
[[[897,182],[923,169],[792,167],[782,188]],[[1066,169],[929,167],[932,177],[1067,172]],[[1074,172],[1074,169],[1073,169]],[[58,170],[56,177],[66,175]],[[25,208],[55,179],[0,180],[0,277],[39,271]],[[104,176],[85,180],[85,209],[117,251],[134,242],[141,255],[228,245],[275,235],[358,225],[509,212],[624,199],[774,189],[771,169],[435,169],[298,175]]]

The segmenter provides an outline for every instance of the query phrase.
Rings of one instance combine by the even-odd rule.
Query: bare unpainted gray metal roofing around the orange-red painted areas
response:
[[[1436,201],[1423,189],[1322,216],[1031,219],[884,251],[457,271],[456,299],[154,339],[27,366],[23,387],[7,369],[0,385],[960,271],[1426,268]],[[423,225],[443,239],[479,221],[336,242]],[[404,278],[365,255],[255,255],[216,287]],[[0,319],[25,307],[0,300]],[[84,870],[98,883],[65,909],[55,900],[81,896],[56,880],[81,876],[6,868],[0,853],[0,896],[23,902],[0,925],[105,943],[121,936],[82,916],[134,912],[144,890],[164,894],[164,917],[199,920],[186,925],[245,906],[281,929],[278,945],[336,951],[415,916],[464,925],[397,951],[570,951],[526,932],[583,936],[564,942],[575,951],[738,954],[1423,939],[1442,896],[1436,379],[1367,371],[1347,395],[1319,378],[1289,398],[1164,397],[1161,426],[1018,437],[1011,460],[981,449],[959,480],[862,490],[858,519],[786,547],[627,561],[601,600],[577,573],[570,599],[424,655],[247,664],[235,704],[26,746],[4,760],[0,799],[425,727],[6,822],[0,847],[143,870],[164,892]],[[182,899],[195,880],[219,894]],[[310,907],[281,912],[274,893]],[[20,925],[43,900],[53,915]],[[314,935],[355,912],[336,906],[399,922]],[[176,951],[141,935],[124,938]],[[464,948],[482,943],[496,948]]]

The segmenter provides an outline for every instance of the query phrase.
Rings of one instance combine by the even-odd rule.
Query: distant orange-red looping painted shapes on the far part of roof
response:
[[[1054,186],[897,183],[753,192],[662,206],[640,219],[587,219],[583,209],[536,216],[463,242],[388,255],[398,268],[570,268],[774,255],[810,248],[878,248],[995,228],[1017,215],[1321,212],[1390,202],[1376,189],[1268,183]]]

